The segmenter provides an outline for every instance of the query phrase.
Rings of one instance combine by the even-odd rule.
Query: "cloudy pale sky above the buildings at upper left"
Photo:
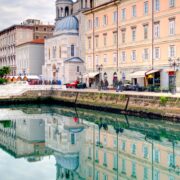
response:
[[[0,30],[28,18],[54,23],[55,0],[0,0]]]

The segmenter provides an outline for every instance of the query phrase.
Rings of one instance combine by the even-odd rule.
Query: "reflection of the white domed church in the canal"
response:
[[[54,151],[57,180],[81,179],[83,130],[83,124],[76,117],[53,115],[46,120],[46,145]]]

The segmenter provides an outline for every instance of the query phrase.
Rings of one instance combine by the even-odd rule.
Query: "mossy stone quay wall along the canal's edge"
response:
[[[82,90],[34,90],[3,98],[0,104],[46,103],[71,105],[128,115],[180,122],[180,98]]]

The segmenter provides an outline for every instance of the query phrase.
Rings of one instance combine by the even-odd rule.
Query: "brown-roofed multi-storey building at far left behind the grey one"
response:
[[[54,26],[43,25],[39,20],[27,20],[0,31],[0,67],[9,66],[11,75],[17,75],[16,47],[33,39],[44,39],[52,35]]]

